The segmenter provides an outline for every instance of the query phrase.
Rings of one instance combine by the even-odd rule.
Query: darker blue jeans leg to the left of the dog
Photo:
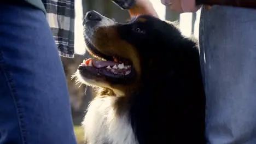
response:
[[[0,143],[76,143],[45,15],[20,3],[0,4],[0,17]]]

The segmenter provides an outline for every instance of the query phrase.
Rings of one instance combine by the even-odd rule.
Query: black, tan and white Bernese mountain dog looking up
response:
[[[149,15],[115,22],[96,11],[84,20],[97,58],[75,77],[100,87],[83,121],[88,144],[201,144],[205,93],[196,43]]]

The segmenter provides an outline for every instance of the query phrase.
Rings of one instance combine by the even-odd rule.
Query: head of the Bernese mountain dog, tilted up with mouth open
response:
[[[88,59],[79,65],[76,76],[117,95],[127,94],[149,79],[160,79],[170,65],[174,68],[182,61],[181,33],[153,16],[140,15],[118,23],[89,11],[84,28],[88,51],[101,61]]]

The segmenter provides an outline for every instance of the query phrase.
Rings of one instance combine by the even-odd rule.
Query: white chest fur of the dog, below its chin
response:
[[[96,98],[83,121],[88,144],[138,144],[126,113],[117,116],[113,109],[115,97]]]

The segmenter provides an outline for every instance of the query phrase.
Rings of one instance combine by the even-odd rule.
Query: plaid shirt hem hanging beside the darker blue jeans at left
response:
[[[63,57],[74,57],[74,0],[42,0],[53,37]]]

